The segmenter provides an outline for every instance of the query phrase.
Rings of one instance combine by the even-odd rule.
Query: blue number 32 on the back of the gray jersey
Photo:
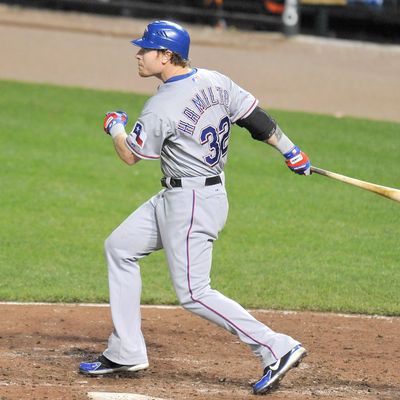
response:
[[[228,139],[231,131],[231,121],[225,116],[219,122],[218,128],[207,126],[200,133],[200,142],[204,146],[208,144],[209,153],[204,161],[210,166],[218,164],[219,160],[228,151]]]

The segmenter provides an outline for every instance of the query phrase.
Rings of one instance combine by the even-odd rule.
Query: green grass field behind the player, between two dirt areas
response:
[[[0,299],[108,300],[103,241],[159,190],[158,162],[124,165],[104,111],[129,126],[146,97],[0,81]],[[400,187],[400,125],[270,110],[316,166]],[[245,307],[400,315],[398,203],[313,175],[234,128],[230,214],[213,286]],[[176,303],[162,252],[143,303]]]

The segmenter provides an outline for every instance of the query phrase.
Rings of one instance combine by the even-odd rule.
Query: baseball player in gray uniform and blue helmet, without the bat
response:
[[[297,174],[309,175],[310,161],[249,92],[221,73],[190,67],[190,38],[180,25],[154,21],[132,43],[139,47],[139,75],[155,76],[162,83],[129,134],[123,111],[109,112],[104,130],[127,164],[160,160],[162,189],[105,242],[114,330],[103,354],[81,363],[79,369],[100,375],[149,366],[141,330],[139,262],[164,249],[182,307],[249,345],[263,368],[253,391],[265,393],[300,362],[306,350],[210,285],[213,242],[228,214],[223,171],[232,125],[275,147]]]

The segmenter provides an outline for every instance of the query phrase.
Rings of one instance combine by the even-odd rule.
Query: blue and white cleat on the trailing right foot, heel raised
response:
[[[268,365],[268,367],[264,369],[262,378],[253,385],[253,393],[262,394],[276,387],[279,381],[285,376],[286,372],[291,368],[297,367],[306,354],[306,349],[302,347],[301,344],[298,344],[275,364]]]

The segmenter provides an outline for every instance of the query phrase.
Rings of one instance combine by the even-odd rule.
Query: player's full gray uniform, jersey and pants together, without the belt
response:
[[[145,202],[106,240],[114,324],[104,352],[109,360],[124,365],[148,361],[139,262],[162,248],[180,304],[236,334],[264,367],[298,344],[210,286],[213,242],[228,215],[223,169],[231,126],[256,106],[250,93],[205,69],[166,81],[144,106],[126,143],[142,159],[160,159],[164,176],[178,178],[179,185]]]

